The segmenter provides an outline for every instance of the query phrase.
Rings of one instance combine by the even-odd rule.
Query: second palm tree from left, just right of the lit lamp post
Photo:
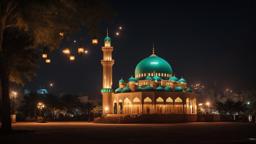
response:
[[[48,93],[45,95],[45,106],[47,107],[46,109],[50,110],[54,118],[56,118],[59,105],[60,102],[56,95],[53,95],[52,93]]]

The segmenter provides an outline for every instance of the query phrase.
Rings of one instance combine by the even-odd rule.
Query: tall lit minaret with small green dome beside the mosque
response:
[[[103,66],[103,88],[101,89],[101,93],[103,95],[102,107],[103,111],[106,113],[112,113],[112,66],[114,64],[114,60],[112,60],[112,51],[113,47],[111,47],[111,39],[108,37],[108,28],[107,28],[107,37],[104,39],[105,46],[102,47],[103,51],[103,60],[101,60],[101,64]]]

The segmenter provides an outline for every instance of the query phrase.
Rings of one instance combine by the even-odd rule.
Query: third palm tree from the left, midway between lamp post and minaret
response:
[[[68,118],[81,103],[81,101],[78,99],[78,95],[72,94],[62,95],[59,102],[61,104],[61,108],[64,110]]]

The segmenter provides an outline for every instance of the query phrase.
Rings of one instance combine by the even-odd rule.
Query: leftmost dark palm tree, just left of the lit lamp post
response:
[[[38,102],[43,101],[43,100],[44,100],[44,96],[39,95],[38,93],[36,93],[36,91],[34,91],[34,92],[29,93],[28,95],[25,95],[22,103],[25,104],[24,106],[27,109],[33,108],[34,115],[36,117],[36,106],[37,106]]]

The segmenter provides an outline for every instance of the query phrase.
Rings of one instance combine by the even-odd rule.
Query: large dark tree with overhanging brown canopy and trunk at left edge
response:
[[[0,76],[2,87],[1,131],[11,131],[9,79],[11,75],[8,47],[3,45],[4,30],[17,27],[28,31],[34,38],[34,48],[45,46],[58,49],[63,32],[69,38],[79,26],[90,33],[99,31],[101,19],[110,21],[113,11],[106,0],[1,0],[0,1]],[[24,73],[23,73],[24,74]],[[18,75],[21,75],[18,73]],[[25,74],[24,74],[25,75]],[[16,82],[16,80],[13,80]],[[18,82],[19,83],[19,82]]]

